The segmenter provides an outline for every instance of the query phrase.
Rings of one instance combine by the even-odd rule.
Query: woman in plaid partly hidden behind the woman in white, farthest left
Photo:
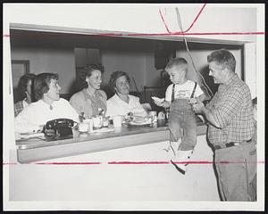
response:
[[[35,74],[23,75],[18,84],[18,92],[21,94],[21,100],[14,104],[15,117],[26,107],[29,103],[34,102],[32,93],[33,81],[36,78]]]

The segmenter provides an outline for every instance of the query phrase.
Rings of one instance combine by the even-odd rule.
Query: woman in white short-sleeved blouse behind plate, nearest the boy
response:
[[[126,115],[129,112],[140,117],[147,116],[147,111],[139,103],[139,98],[130,95],[130,77],[126,72],[114,71],[109,84],[115,94],[107,101],[106,116]]]

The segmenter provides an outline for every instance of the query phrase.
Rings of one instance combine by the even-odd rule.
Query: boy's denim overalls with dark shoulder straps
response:
[[[190,98],[194,97],[197,82],[193,88]],[[170,108],[169,128],[170,139],[172,142],[178,142],[182,136],[179,150],[193,150],[197,144],[197,121],[192,106],[188,99],[174,99],[174,88],[172,86],[172,105]],[[180,128],[183,128],[183,133]]]

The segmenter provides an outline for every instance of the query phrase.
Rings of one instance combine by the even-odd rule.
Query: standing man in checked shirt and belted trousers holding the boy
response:
[[[209,75],[220,84],[210,103],[197,101],[193,110],[208,120],[208,140],[222,201],[255,201],[256,148],[253,106],[247,84],[235,74],[236,60],[225,49],[207,56]]]

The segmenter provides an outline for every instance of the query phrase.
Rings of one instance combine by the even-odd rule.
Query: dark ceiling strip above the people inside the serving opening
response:
[[[111,37],[98,35],[83,35],[75,33],[59,33],[34,31],[23,29],[10,29],[11,48],[14,47],[84,47],[113,50],[131,50],[146,52],[171,52],[185,50],[183,41],[157,40],[135,37]],[[180,38],[181,39],[181,38]],[[188,42],[188,48],[195,49],[219,49],[222,47],[240,49],[241,45],[222,45]]]

